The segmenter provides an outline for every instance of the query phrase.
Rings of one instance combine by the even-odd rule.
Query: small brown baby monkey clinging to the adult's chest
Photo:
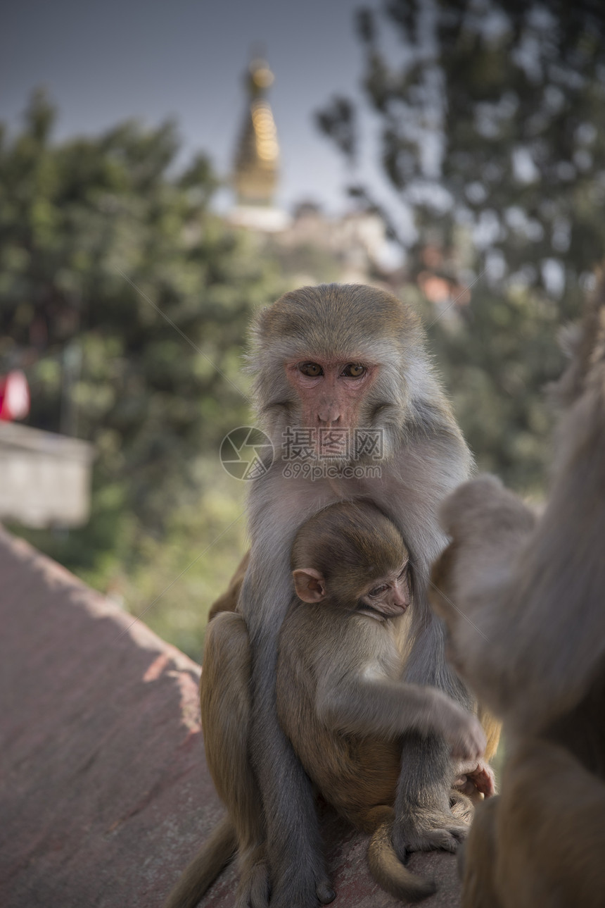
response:
[[[466,780],[493,794],[478,720],[435,687],[402,680],[412,577],[395,525],[365,500],[338,502],[299,530],[297,597],[278,646],[278,719],[318,791],[372,834],[370,872],[388,893],[419,901],[434,883],[408,871],[391,842],[402,736],[444,735]],[[454,782],[454,765],[453,765]],[[460,836],[465,833],[461,824]]]

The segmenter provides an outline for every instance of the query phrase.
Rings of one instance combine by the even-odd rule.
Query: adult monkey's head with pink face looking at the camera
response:
[[[259,314],[251,341],[259,419],[288,460],[391,459],[412,391],[432,383],[417,317],[374,287],[286,293]]]

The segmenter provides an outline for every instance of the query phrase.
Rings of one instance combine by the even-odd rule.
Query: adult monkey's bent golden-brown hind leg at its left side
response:
[[[265,826],[249,760],[250,647],[244,619],[221,612],[206,631],[200,680],[201,724],[210,775],[239,844],[237,905],[268,903]]]

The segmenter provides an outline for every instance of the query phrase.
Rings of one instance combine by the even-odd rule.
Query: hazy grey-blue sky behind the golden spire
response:
[[[365,0],[377,7],[380,0]],[[312,114],[336,93],[358,94],[357,0],[20,0],[0,34],[0,118],[19,122],[45,85],[56,135],[98,133],[128,117],[178,123],[185,155],[210,153],[226,175],[239,133],[242,74],[255,43],[276,76],[269,100],[282,153],[279,202],[346,207],[343,162]],[[367,120],[371,132],[376,124]],[[371,163],[363,173],[379,194]],[[223,199],[223,204],[226,202]]]

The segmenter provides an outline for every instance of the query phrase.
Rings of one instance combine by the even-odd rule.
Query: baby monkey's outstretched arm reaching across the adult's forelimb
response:
[[[372,620],[372,619],[370,619]],[[485,735],[472,713],[435,687],[405,684],[371,663],[342,675],[324,670],[317,685],[317,716],[335,731],[395,737],[415,730],[443,735],[454,757],[478,759]]]

